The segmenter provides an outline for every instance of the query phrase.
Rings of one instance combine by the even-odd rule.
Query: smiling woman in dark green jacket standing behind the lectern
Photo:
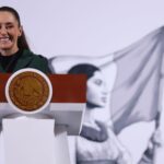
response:
[[[49,73],[48,61],[30,50],[19,13],[10,7],[0,8],[0,72],[34,68]]]

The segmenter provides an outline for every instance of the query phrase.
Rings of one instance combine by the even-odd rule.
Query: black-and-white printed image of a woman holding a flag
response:
[[[87,77],[86,112],[80,137],[74,139],[77,164],[155,162],[162,147],[163,38],[164,28],[159,27],[134,44],[102,57],[51,59],[57,72]],[[127,131],[130,134],[130,130],[138,129],[145,133],[125,140]]]

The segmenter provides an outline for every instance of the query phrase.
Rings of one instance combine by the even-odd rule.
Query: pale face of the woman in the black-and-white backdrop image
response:
[[[86,99],[89,103],[104,107],[107,102],[107,86],[101,71],[87,80]]]

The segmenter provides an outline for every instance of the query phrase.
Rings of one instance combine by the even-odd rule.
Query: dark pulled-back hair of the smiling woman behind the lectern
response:
[[[4,11],[10,12],[16,19],[16,21],[19,23],[19,27],[20,27],[21,19],[20,19],[17,11],[11,7],[0,7],[0,12],[4,12]],[[30,46],[27,44],[24,31],[22,31],[22,35],[17,39],[17,47],[20,49],[28,49],[30,50]]]

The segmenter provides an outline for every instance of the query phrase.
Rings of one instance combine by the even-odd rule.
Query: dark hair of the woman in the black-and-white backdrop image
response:
[[[95,71],[99,71],[99,69],[90,63],[80,63],[73,66],[68,73],[69,74],[86,74],[86,79],[89,80],[91,77],[93,77]]]

